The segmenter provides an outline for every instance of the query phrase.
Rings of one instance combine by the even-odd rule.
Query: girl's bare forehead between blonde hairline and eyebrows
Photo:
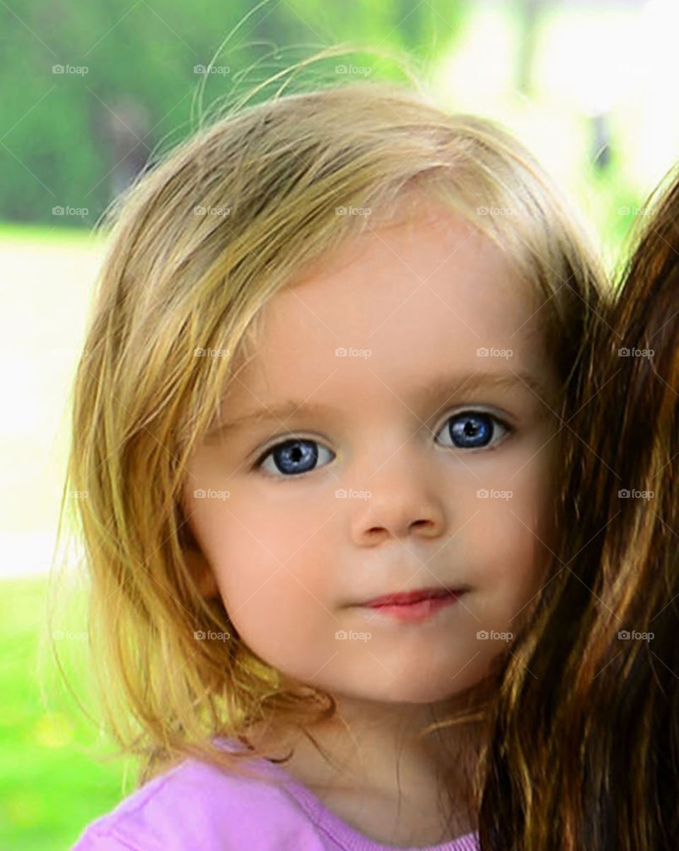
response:
[[[448,209],[351,237],[277,293],[229,398],[356,383],[421,382],[442,368],[545,369],[539,308],[488,237]],[[242,382],[242,383],[241,383]]]

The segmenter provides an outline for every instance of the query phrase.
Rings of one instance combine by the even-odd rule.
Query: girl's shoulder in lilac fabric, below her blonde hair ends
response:
[[[321,851],[313,821],[285,785],[188,759],[91,822],[71,851]]]

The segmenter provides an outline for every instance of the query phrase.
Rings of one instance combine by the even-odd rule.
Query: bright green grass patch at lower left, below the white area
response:
[[[88,822],[123,797],[123,762],[97,762],[94,752],[88,753],[96,748],[96,730],[67,699],[66,690],[54,688],[56,665],[49,663],[51,657],[38,665],[46,591],[43,578],[0,581],[3,851],[66,851]],[[69,667],[76,684],[82,677],[77,671],[77,665]],[[39,677],[48,688],[47,705]]]

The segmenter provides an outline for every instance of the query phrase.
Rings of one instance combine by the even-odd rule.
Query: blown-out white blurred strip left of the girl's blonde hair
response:
[[[0,231],[0,578],[52,564],[71,379],[102,257],[87,233]]]

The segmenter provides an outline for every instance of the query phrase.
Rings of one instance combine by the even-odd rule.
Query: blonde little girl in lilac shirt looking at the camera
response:
[[[142,770],[77,851],[477,848],[602,292],[528,151],[395,84],[238,111],[128,192],[69,487]]]

